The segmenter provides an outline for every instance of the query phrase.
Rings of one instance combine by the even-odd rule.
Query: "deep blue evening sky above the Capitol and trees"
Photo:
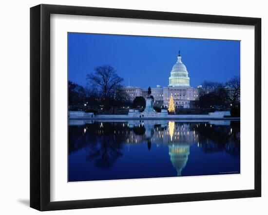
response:
[[[94,68],[111,65],[125,86],[168,86],[179,50],[193,87],[240,76],[240,41],[68,33],[69,80],[86,86]]]

